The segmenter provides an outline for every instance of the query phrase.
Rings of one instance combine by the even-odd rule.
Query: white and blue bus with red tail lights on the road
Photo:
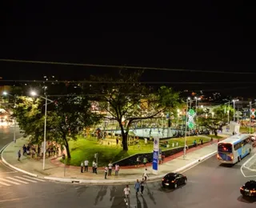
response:
[[[219,162],[234,164],[250,154],[253,149],[250,134],[235,134],[218,142]]]

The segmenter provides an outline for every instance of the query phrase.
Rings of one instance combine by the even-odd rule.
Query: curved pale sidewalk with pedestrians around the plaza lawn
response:
[[[130,180],[134,181],[137,178],[142,178],[142,174],[145,170],[144,167],[136,168],[134,166],[120,167],[118,176],[110,176],[108,179],[104,179],[104,170],[103,168],[98,168],[98,174],[93,174],[91,168],[88,173],[81,173],[80,167],[77,166],[65,166],[60,163],[57,159],[46,158],[46,170],[42,170],[42,159],[36,160],[32,158],[27,158],[22,156],[21,160],[17,159],[17,152],[19,149],[22,149],[22,146],[28,141],[27,138],[20,138],[16,143],[11,143],[6,147],[2,152],[3,162],[7,162],[12,166],[15,166],[18,169],[25,170],[31,174],[36,174],[38,177],[45,178],[73,178],[76,180],[94,180],[101,181],[106,183],[107,181],[111,182],[128,182]],[[150,180],[153,178],[162,178],[163,174],[170,173],[172,171],[181,171],[182,167],[188,168],[189,166],[194,165],[198,160],[204,159],[205,155],[213,155],[217,150],[216,141],[211,144],[206,143],[203,146],[198,146],[191,148],[187,151],[186,158],[183,158],[183,153],[174,154],[165,159],[165,163],[158,166],[158,175],[152,173],[152,165],[147,164],[147,169],[150,174]],[[185,169],[183,168],[183,169]],[[49,179],[50,179],[49,178]],[[65,181],[65,180],[62,180]]]

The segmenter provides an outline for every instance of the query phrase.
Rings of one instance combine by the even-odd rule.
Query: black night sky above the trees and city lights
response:
[[[110,1],[74,4],[20,2],[2,6],[0,58],[190,70],[256,73],[255,7],[250,1]],[[93,3],[95,2],[95,3]],[[166,1],[170,2],[170,1]],[[36,79],[45,74],[83,79],[117,70],[0,62],[0,77]],[[255,75],[146,70],[155,82],[254,82]],[[179,85],[253,94],[251,84]],[[231,89],[231,90],[230,90]]]

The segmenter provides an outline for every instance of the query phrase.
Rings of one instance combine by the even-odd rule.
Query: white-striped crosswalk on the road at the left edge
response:
[[[40,178],[30,177],[28,175],[22,176],[12,176],[12,177],[1,177],[0,178],[0,187],[2,186],[16,186],[16,185],[27,185],[29,183],[37,183],[37,182],[46,182]]]

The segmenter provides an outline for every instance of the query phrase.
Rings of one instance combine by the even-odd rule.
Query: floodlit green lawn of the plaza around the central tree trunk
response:
[[[187,145],[190,145],[194,142],[194,139],[198,142],[200,137],[187,137],[186,139]],[[202,138],[202,140],[209,141],[207,138]],[[172,146],[173,142],[178,142],[178,146],[184,146],[184,138],[173,138],[168,139],[168,141],[170,146]],[[153,142],[145,145],[142,140],[139,140],[139,146],[129,146],[128,151],[123,151],[121,146],[117,147],[114,139],[109,144],[108,142],[100,144],[95,138],[78,138],[77,141],[70,141],[69,144],[71,160],[68,163],[72,166],[80,166],[81,162],[85,159],[89,160],[91,166],[95,153],[98,153],[98,166],[106,166],[110,161],[116,162],[133,154],[149,153],[153,150]],[[171,148],[161,147],[162,150],[169,150]]]

